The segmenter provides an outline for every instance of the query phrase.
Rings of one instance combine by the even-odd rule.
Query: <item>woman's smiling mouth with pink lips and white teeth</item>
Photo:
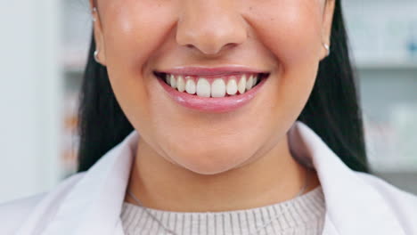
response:
[[[208,112],[226,112],[249,103],[269,72],[240,69],[185,68],[153,71],[159,85],[180,105]]]

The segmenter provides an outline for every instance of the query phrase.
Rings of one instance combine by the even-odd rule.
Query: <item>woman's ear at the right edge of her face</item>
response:
[[[323,8],[323,24],[322,24],[322,43],[331,45],[331,22],[333,21],[333,13],[335,2],[339,0],[324,0]],[[327,57],[327,50],[321,45],[321,60]]]

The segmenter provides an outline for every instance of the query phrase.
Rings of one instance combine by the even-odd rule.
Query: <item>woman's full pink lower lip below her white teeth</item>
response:
[[[267,77],[263,77],[258,85],[246,93],[225,96],[221,98],[208,98],[200,97],[195,94],[181,93],[172,88],[170,85],[166,84],[164,81],[162,81],[161,78],[158,77],[157,80],[159,81],[159,84],[162,85],[162,87],[165,89],[165,91],[167,91],[169,97],[171,97],[180,105],[189,109],[221,113],[239,109],[245,104],[249,103],[249,101],[251,101],[255,95],[257,95],[259,89],[265,84],[266,79]]]

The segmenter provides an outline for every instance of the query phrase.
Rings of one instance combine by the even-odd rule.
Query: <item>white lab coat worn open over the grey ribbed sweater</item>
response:
[[[323,235],[417,234],[417,197],[352,171],[299,121],[288,134],[293,154],[315,167],[322,184]],[[53,190],[0,206],[0,234],[124,234],[119,215],[138,138],[129,134],[87,172]]]

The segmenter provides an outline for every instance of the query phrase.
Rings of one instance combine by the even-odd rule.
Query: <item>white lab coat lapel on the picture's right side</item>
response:
[[[380,192],[348,168],[312,129],[297,122],[289,132],[289,142],[293,156],[314,166],[322,184],[323,234],[405,235]]]

